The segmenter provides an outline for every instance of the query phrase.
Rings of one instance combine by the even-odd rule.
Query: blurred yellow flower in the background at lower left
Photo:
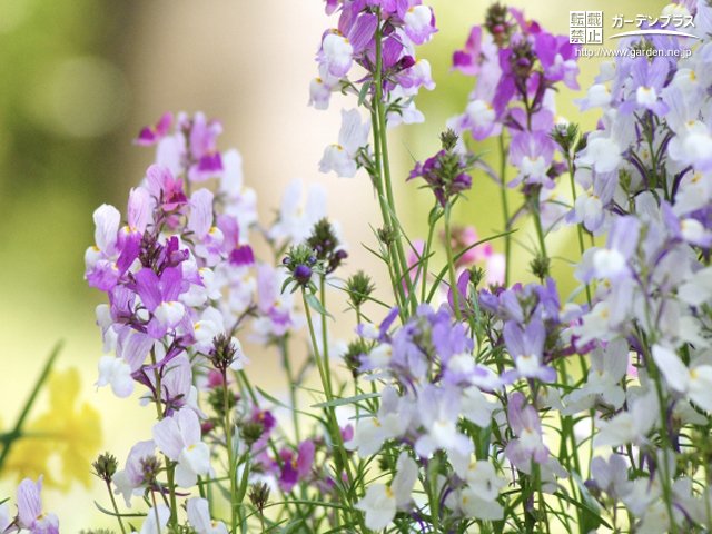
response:
[[[49,408],[28,423],[14,443],[6,464],[18,478],[44,475],[47,486],[69,490],[77,479],[89,487],[91,462],[101,446],[99,413],[79,404],[80,379],[76,368],[53,372],[49,380]],[[52,476],[55,462],[61,474]]]

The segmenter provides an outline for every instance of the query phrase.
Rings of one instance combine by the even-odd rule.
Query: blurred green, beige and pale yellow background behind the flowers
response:
[[[417,159],[432,155],[445,121],[464,109],[474,80],[453,72],[451,57],[463,47],[471,26],[483,21],[490,2],[428,3],[435,8],[439,32],[418,55],[431,61],[437,88],[417,100],[427,122],[399,128],[392,136],[397,204],[412,238],[425,237],[432,198],[428,191],[405,185],[411,155]],[[650,0],[511,3],[557,33],[568,32],[570,9],[602,10],[610,26],[614,14],[656,14],[665,4]],[[51,392],[46,388],[30,421],[49,414],[41,419],[48,431],[73,428],[76,439],[79,428],[61,427],[57,419],[85,421],[83,428],[91,428],[87,404],[100,414],[101,429],[100,436],[79,433],[91,446],[72,444],[78,454],[73,456],[66,453],[71,439],[63,431],[57,431],[53,435],[59,437],[50,442],[58,454],[50,461],[47,479],[65,481],[63,464],[81,475],[65,485],[68,493],[46,493],[47,507],[58,512],[65,532],[101,522],[92,501],[106,502],[102,487],[98,482],[88,486],[80,482],[89,479],[86,474],[92,459],[91,451],[85,449],[108,448],[122,463],[130,445],[150,435],[151,413],[141,409],[137,398],[118,400],[108,389],[97,392],[92,386],[101,355],[93,309],[102,296],[82,280],[83,251],[93,238],[93,209],[108,202],[125,211],[129,187],[152,160],[152,149],[131,146],[141,126],[165,110],[202,110],[220,119],[225,126],[221,148],[235,146],[241,151],[246,180],[258,191],[265,224],[274,218],[279,191],[290,179],[324,184],[329,212],[340,221],[350,245],[346,274],[357,267],[382,270],[376,279],[385,289],[385,269],[360,246],[374,245],[368,225],[378,226],[368,178],[337,179],[317,171],[324,147],[337,138],[340,108],[355,106],[354,99],[343,97],[335,98],[328,111],[306,106],[319,38],[334,24],[319,0],[0,2],[0,432],[13,424],[50,348],[65,339],[57,369],[76,367],[78,374],[61,375]],[[585,88],[597,72],[597,60],[582,59],[580,65]],[[563,90],[558,113],[591,129],[597,116],[577,111],[573,99],[580,96]],[[497,165],[495,148],[491,142],[475,147]],[[514,206],[517,198],[511,191]],[[502,230],[498,190],[490,178],[475,175],[457,219],[474,225],[482,237]],[[526,221],[517,226],[516,241],[531,246],[533,229]],[[568,230],[551,236],[550,254],[576,260],[573,237]],[[502,250],[502,244],[495,248]],[[513,279],[530,280],[528,253],[518,245],[515,253]],[[568,263],[555,260],[557,278],[570,280],[571,273]],[[562,284],[564,295],[573,288],[571,281]],[[271,382],[278,375],[275,354],[249,356],[248,374],[255,383],[268,390],[284,388],[281,382]],[[72,388],[77,398],[68,399]],[[58,406],[62,409],[52,409]],[[28,457],[47,454],[44,445],[37,447]],[[87,456],[83,466],[82,454]],[[16,475],[2,474],[0,501],[13,496]]]

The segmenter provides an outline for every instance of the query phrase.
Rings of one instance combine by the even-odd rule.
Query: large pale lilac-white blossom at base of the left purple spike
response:
[[[200,441],[200,422],[191,409],[179,409],[154,425],[154,441],[160,451],[174,462],[176,484],[192,487],[198,475],[210,471],[210,451]]]

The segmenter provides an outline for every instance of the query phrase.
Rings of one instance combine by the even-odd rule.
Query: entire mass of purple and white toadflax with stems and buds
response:
[[[382,221],[364,245],[386,288],[365,268],[342,277],[349,253],[320,186],[303,198],[293,181],[260,227],[218,122],[166,115],[141,130],[156,161],[125,219],[97,209],[86,254],[87,281],[108,298],[97,384],[120,397],[138,387],[156,409],[123,462],[93,464],[121,531],[119,507],[136,504],[145,533],[712,528],[708,3],[663,13],[693,17],[698,39],[657,21],[622,40],[650,53],[603,65],[578,101],[602,111],[591,132],[555,113],[555,93],[577,88],[575,47],[491,6],[453,57],[477,78],[465,112],[403,177],[434,196],[427,238],[411,239],[386,130],[423,119],[414,97],[434,83],[414,49],[435,17],[415,0],[327,0],[338,29],[322,38],[310,102],[343,91],[356,107],[319,167],[368,174]],[[693,53],[662,53],[683,48]],[[498,171],[473,156],[491,137]],[[485,239],[453,219],[478,172],[502,194],[503,231]],[[268,259],[255,257],[255,228]],[[577,241],[573,258],[548,254],[554,229]],[[534,277],[510,280],[514,246],[532,253]],[[277,355],[284,396],[253,384],[238,338],[260,360]],[[0,531],[57,532],[40,484],[20,484],[14,518],[0,505]]]

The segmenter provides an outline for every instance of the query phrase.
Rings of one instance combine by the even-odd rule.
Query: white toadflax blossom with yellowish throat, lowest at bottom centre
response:
[[[366,526],[380,531],[390,524],[398,508],[411,502],[411,493],[418,479],[418,466],[407,453],[400,453],[396,475],[390,485],[372,484],[356,507],[366,514]]]

